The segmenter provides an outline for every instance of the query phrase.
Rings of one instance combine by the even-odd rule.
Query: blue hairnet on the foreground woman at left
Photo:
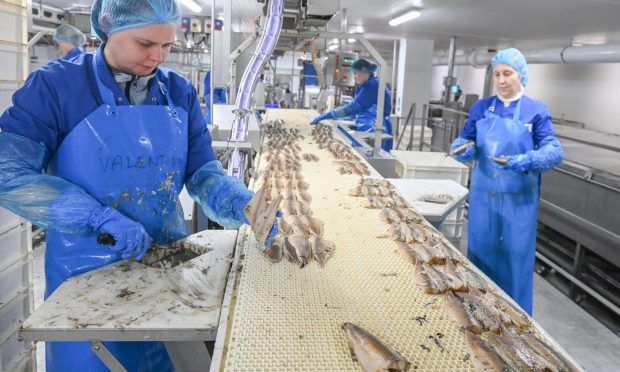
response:
[[[154,24],[176,24],[177,0],[95,0],[90,13],[92,33],[102,41],[116,32]]]

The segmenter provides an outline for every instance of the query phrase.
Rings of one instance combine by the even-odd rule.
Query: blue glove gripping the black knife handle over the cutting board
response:
[[[124,259],[135,256],[140,260],[149,248],[149,235],[144,227],[114,208],[95,209],[88,223],[93,231],[112,235],[116,244],[111,249],[120,252]]]

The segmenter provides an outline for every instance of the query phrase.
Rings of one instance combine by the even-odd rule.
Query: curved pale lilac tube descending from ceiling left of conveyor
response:
[[[267,19],[265,21],[265,27],[263,28],[263,34],[241,78],[240,92],[235,102],[235,121],[230,131],[229,142],[244,142],[247,139],[252,93],[256,87],[256,81],[280,37],[283,20],[283,3],[284,0],[269,0],[269,4],[267,5]],[[235,147],[228,163],[228,174],[243,179],[244,173],[245,157]]]

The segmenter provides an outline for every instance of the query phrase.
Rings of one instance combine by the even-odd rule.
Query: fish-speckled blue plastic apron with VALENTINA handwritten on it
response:
[[[187,163],[187,113],[167,105],[116,106],[93,68],[104,104],[65,138],[52,160],[57,176],[84,188],[100,203],[140,222],[155,243],[186,235],[179,193]],[[121,260],[96,242],[96,233],[49,231],[45,257],[46,297],[66,279]],[[106,342],[128,371],[173,370],[161,342]],[[107,371],[87,342],[51,342],[48,371]]]

